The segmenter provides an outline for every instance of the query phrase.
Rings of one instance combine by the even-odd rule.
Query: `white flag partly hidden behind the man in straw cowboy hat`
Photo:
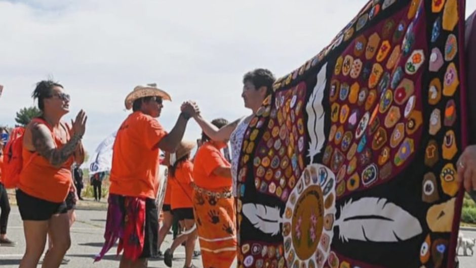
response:
[[[96,148],[96,151],[91,157],[91,162],[89,164],[90,175],[111,170],[112,146],[114,145],[116,133],[117,131],[114,131],[114,133],[109,135],[104,141],[101,142],[101,144],[99,144],[98,148]]]

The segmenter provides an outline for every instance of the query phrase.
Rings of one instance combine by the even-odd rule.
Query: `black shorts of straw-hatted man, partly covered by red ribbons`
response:
[[[124,196],[120,196],[121,208],[126,215],[127,211],[124,206]],[[124,220],[123,220],[124,222]],[[145,200],[145,233],[144,233],[144,248],[139,258],[150,258],[154,256],[157,251],[158,238],[158,211],[155,205],[155,200],[147,198]]]

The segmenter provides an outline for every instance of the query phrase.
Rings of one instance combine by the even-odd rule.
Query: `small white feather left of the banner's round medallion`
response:
[[[242,211],[251,224],[261,232],[272,236],[280,233],[281,212],[279,208],[247,203],[243,205]]]

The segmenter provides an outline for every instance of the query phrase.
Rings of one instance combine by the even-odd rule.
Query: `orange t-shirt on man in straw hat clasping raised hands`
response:
[[[155,199],[160,150],[167,135],[153,117],[134,112],[123,122],[114,141],[109,193]]]

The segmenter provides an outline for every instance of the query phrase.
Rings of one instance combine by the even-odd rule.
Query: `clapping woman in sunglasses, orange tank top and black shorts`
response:
[[[26,240],[20,267],[36,267],[47,234],[53,246],[43,267],[59,267],[71,244],[65,199],[72,182],[71,165],[84,160],[81,139],[87,116],[81,110],[71,126],[62,122],[69,112],[69,95],[51,80],[38,82],[32,97],[42,115],[31,120],[23,136],[23,168],[16,192]]]

